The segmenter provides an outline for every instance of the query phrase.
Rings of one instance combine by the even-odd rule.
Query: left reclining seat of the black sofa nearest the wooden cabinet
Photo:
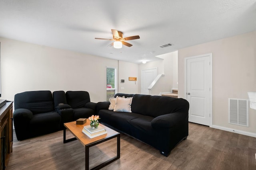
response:
[[[18,140],[59,131],[61,115],[54,109],[52,92],[47,90],[16,94],[13,121]]]

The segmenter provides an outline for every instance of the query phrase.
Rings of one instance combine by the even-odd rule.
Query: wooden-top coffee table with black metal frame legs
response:
[[[86,136],[82,132],[82,129],[84,128],[85,125],[90,125],[90,121],[88,119],[84,125],[76,125],[76,121],[64,123],[63,143],[74,141],[76,139],[82,143],[82,145],[85,147],[85,169],[86,170],[89,170],[89,148],[94,145],[98,145],[100,143],[113,139],[115,137],[117,138],[116,156],[114,158],[111,158],[110,160],[107,160],[99,164],[98,166],[95,166],[91,170],[98,170],[120,158],[120,133],[114,131],[113,129],[110,129],[109,127],[106,127],[100,124],[100,126],[104,127],[108,131],[108,133],[90,139],[88,136]],[[68,129],[75,137],[71,139],[66,139],[66,129]]]

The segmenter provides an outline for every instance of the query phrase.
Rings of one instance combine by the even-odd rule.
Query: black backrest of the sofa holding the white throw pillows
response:
[[[182,98],[151,96],[144,94],[116,94],[116,96],[133,97],[131,109],[133,113],[157,117],[174,112],[187,112],[188,102]]]

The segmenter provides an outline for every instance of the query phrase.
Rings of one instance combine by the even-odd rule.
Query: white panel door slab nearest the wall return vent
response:
[[[190,104],[188,121],[210,125],[212,108],[212,54],[188,57],[186,64],[186,100]]]

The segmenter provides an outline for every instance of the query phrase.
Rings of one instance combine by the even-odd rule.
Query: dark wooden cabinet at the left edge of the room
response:
[[[4,166],[8,164],[10,153],[12,152],[12,103],[6,102],[4,106],[0,108],[0,169],[5,169]]]

